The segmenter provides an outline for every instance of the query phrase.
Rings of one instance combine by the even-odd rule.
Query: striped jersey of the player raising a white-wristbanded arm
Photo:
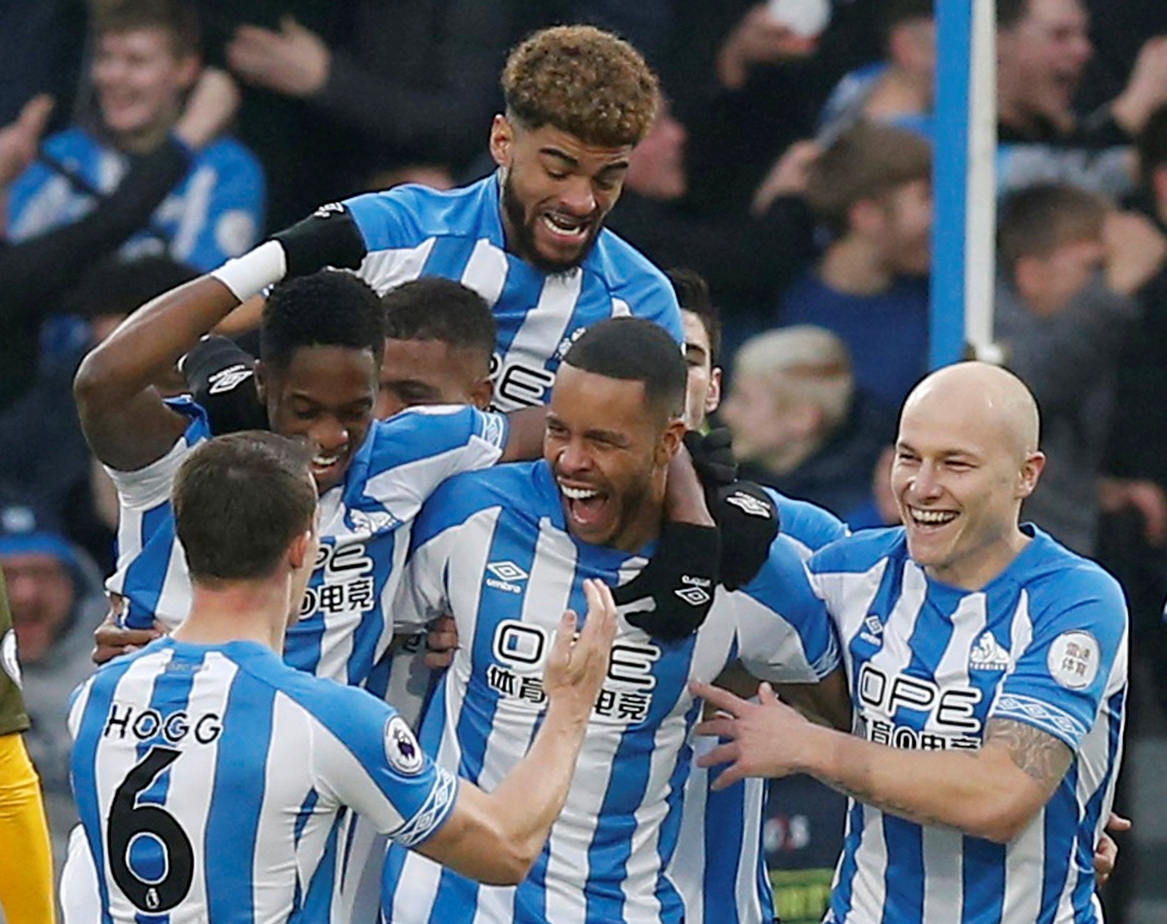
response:
[[[125,598],[123,620],[135,629],[154,620],[174,628],[190,607],[170,487],[187,453],[210,432],[197,404],[170,406],[190,418],[174,448],[138,471],[107,469],[121,511],[118,566],[106,586]],[[393,637],[389,604],[421,502],[449,475],[494,464],[505,442],[504,416],[463,405],[415,407],[369,428],[344,481],[320,498],[320,555],[301,620],[288,630],[288,664],[365,682]]]

